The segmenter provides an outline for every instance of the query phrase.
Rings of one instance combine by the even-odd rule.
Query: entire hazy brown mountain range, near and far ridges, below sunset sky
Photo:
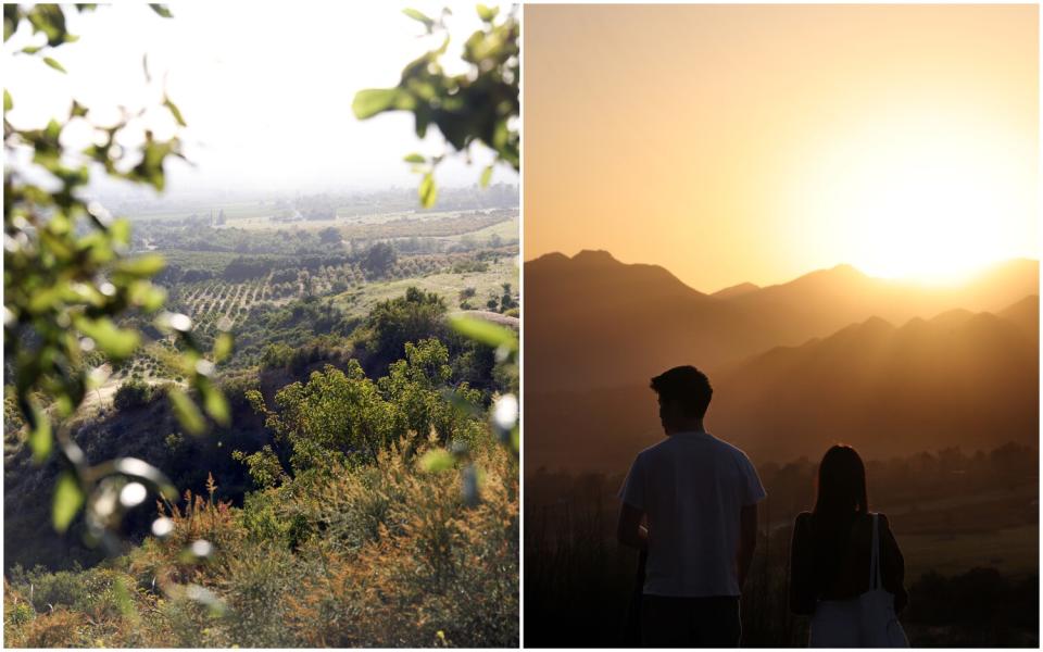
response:
[[[596,272],[577,259],[598,260]],[[960,288],[928,291],[841,266],[721,300],[603,252],[533,261],[525,279],[527,467],[625,471],[662,438],[648,378],[684,362],[709,371],[709,429],[758,461],[815,459],[835,441],[868,457],[1035,442],[1033,268],[1016,262]],[[644,285],[651,278],[668,289],[653,292]],[[1022,290],[994,314],[978,308]],[[570,304],[560,305],[566,297]],[[929,318],[890,321],[869,310],[919,310]],[[716,321],[692,327],[703,315]],[[826,337],[777,346],[843,315],[859,316]]]

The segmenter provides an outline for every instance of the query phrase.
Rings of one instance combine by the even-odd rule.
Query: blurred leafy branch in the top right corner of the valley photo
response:
[[[517,5],[512,5],[502,16],[499,9],[482,4],[477,11],[483,25],[464,42],[462,57],[468,68],[458,75],[449,75],[441,58],[449,49],[445,21],[452,12],[443,9],[438,18],[431,18],[415,9],[404,10],[405,15],[424,25],[427,34],[444,35],[442,45],[410,62],[398,86],[360,90],[352,110],[359,120],[387,111],[409,111],[415,118],[418,138],[424,138],[435,125],[453,150],[463,152],[468,162],[472,146],[480,142],[495,156],[481,172],[480,183],[485,187],[492,179],[495,163],[506,163],[515,171],[522,166],[517,125],[520,26],[515,15]],[[435,168],[443,159],[444,155],[425,158],[418,153],[405,156],[405,162],[423,175],[418,193],[424,208],[435,205],[438,199]]]

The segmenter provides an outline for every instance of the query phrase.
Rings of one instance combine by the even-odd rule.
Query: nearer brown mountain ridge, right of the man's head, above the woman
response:
[[[990,313],[875,317],[757,355],[715,387],[709,427],[770,460],[838,441],[884,457],[1039,439],[1039,338]]]

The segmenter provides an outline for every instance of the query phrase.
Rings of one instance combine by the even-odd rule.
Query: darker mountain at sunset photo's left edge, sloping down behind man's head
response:
[[[775,343],[741,308],[604,251],[526,263],[524,329],[526,386],[540,389],[625,385]]]

